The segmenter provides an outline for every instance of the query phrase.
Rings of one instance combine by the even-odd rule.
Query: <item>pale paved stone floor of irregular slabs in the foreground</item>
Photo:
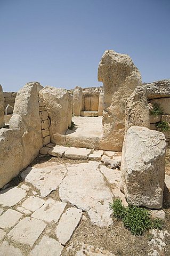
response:
[[[109,202],[120,197],[126,204],[120,171],[100,161],[40,162],[21,172],[17,186],[0,192],[0,256],[115,255],[69,241],[87,217],[96,227],[111,225]]]

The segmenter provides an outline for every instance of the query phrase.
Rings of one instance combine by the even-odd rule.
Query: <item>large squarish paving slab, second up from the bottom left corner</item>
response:
[[[7,236],[12,241],[33,246],[45,227],[44,221],[26,217],[20,220]]]

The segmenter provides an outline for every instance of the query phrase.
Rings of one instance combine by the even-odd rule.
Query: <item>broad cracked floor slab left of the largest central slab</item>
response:
[[[21,177],[40,190],[41,196],[45,197],[55,190],[66,175],[66,167],[48,163],[46,167],[28,167],[21,173]]]

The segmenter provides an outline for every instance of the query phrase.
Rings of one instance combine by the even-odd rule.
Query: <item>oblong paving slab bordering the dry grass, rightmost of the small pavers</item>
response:
[[[72,233],[78,226],[82,217],[82,210],[70,207],[61,216],[59,224],[56,228],[56,236],[61,244],[66,244],[72,236]]]

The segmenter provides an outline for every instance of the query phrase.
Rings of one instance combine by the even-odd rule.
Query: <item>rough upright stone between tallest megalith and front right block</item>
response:
[[[136,87],[127,100],[125,131],[131,126],[150,127],[147,90],[144,87]]]

